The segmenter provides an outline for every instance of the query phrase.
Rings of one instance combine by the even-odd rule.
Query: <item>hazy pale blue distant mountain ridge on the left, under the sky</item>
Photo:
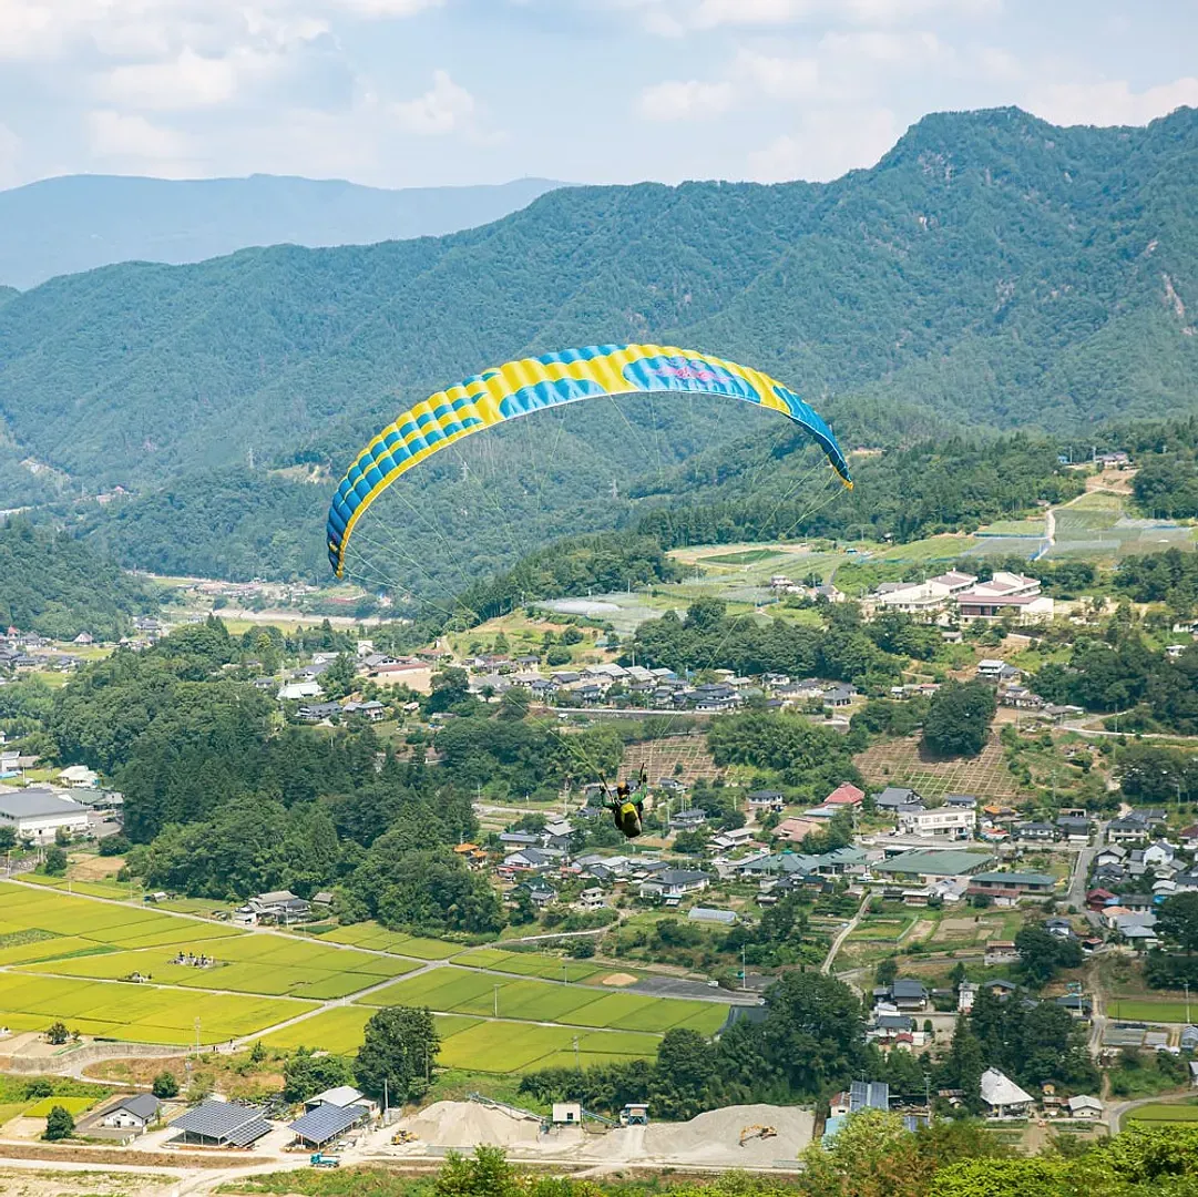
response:
[[[0,192],[0,284],[123,261],[198,262],[247,246],[352,246],[489,224],[559,187],[385,191],[277,175],[174,181],[65,175]]]

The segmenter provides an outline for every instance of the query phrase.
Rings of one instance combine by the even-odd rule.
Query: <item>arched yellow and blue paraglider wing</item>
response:
[[[353,527],[400,474],[472,433],[543,407],[603,395],[678,392],[724,395],[781,412],[803,428],[852,486],[831,429],[793,391],[761,370],[689,349],[593,345],[508,362],[422,400],[388,424],[357,457],[328,512],[328,560],[337,576]]]

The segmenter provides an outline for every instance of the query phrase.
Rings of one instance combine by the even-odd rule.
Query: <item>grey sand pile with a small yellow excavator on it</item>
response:
[[[751,1138],[740,1147],[745,1126],[773,1126],[772,1138]],[[793,1160],[810,1145],[815,1118],[792,1106],[728,1106],[712,1110],[689,1123],[652,1123],[645,1136],[645,1154],[678,1163],[725,1167],[769,1167],[775,1160]]]

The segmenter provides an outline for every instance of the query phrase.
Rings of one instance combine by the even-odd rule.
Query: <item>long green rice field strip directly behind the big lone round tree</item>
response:
[[[491,974],[452,965],[399,980],[361,1000],[368,1005],[420,1005],[453,1014],[658,1033],[686,1026],[714,1034],[727,1016],[727,1009],[719,1003],[599,993],[583,986],[537,980],[497,981]]]

